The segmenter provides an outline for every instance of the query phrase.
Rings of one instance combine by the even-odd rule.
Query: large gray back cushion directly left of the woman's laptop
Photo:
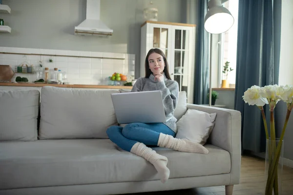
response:
[[[112,93],[119,91],[42,87],[39,138],[108,138],[117,125]]]

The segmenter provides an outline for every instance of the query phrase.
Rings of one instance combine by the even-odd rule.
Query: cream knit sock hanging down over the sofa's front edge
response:
[[[156,151],[140,142],[135,143],[132,146],[130,152],[145,158],[148,162],[153,164],[160,176],[162,183],[165,183],[168,180],[170,176],[170,170],[167,168],[168,159],[166,156],[157,154]]]

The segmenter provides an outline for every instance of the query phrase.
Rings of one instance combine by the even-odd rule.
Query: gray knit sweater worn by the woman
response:
[[[165,115],[172,116],[167,122],[164,122],[164,124],[177,133],[177,119],[174,117],[174,110],[178,102],[179,86],[175,80],[167,79],[164,73],[163,76],[164,81],[161,82],[158,82],[157,80],[155,81],[153,74],[151,74],[149,78],[138,78],[132,87],[131,92],[160,90],[162,93]]]

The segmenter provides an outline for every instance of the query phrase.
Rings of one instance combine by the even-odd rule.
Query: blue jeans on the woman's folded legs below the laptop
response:
[[[172,131],[164,123],[141,123],[127,124],[125,127],[111,126],[106,131],[109,139],[123,150],[130,152],[136,142],[149,146],[157,146],[160,133],[175,137]]]

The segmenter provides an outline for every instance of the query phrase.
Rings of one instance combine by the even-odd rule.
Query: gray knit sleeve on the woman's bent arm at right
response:
[[[162,81],[157,83],[157,90],[160,90],[162,93],[165,115],[168,116],[174,112],[177,106],[179,85],[176,81],[174,81],[167,87],[165,82]]]

